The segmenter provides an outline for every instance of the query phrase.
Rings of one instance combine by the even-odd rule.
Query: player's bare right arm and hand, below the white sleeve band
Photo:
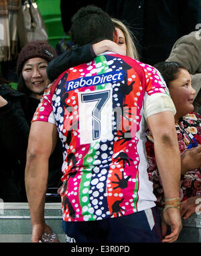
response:
[[[178,147],[174,113],[159,112],[147,118],[147,124],[154,140],[157,168],[161,177],[165,199],[180,198],[181,158]],[[166,235],[167,227],[162,225],[163,242],[174,242],[182,228],[180,210],[168,208],[163,212],[163,222],[171,226],[171,234]]]

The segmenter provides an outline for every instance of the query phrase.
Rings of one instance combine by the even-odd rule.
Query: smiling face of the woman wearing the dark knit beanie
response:
[[[22,69],[22,76],[31,96],[40,98],[40,94],[49,84],[46,68],[48,62],[43,58],[30,58],[25,62]]]

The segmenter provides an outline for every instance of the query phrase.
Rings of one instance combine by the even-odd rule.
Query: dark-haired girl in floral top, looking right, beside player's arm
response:
[[[175,124],[182,161],[181,216],[185,219],[195,212],[196,200],[201,198],[201,116],[193,112],[195,90],[190,73],[178,62],[159,62],[155,68],[163,76],[176,107]],[[163,186],[155,162],[153,137],[150,131],[146,136],[149,179],[153,181],[157,206],[163,207]]]

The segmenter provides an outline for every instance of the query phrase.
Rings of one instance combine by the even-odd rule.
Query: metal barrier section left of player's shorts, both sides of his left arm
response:
[[[59,241],[65,243],[62,230],[60,203],[46,203],[46,223],[58,234]],[[0,212],[0,243],[30,243],[31,219],[27,203],[4,203]]]

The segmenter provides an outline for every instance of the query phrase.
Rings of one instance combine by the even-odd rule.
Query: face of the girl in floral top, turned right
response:
[[[182,118],[194,110],[194,95],[196,91],[192,88],[192,79],[186,69],[180,69],[178,78],[170,83],[170,95],[176,107],[176,118]]]

